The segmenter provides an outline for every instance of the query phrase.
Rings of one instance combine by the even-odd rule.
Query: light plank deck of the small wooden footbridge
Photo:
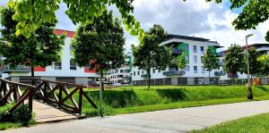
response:
[[[35,113],[35,121],[52,122],[52,121],[68,121],[82,117],[80,114],[71,114],[41,101],[33,100],[33,112]]]

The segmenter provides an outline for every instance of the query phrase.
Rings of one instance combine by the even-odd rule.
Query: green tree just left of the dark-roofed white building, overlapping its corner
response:
[[[167,33],[161,25],[153,27],[144,33],[139,46],[132,46],[134,66],[147,71],[148,88],[151,87],[151,69],[165,70],[171,61],[171,50],[166,46],[159,46],[167,38]]]

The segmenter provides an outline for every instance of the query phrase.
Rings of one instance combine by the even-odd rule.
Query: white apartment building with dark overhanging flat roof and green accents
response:
[[[179,71],[176,64],[171,63],[165,71],[151,70],[151,85],[206,85],[218,84],[221,75],[218,70],[211,71],[211,79],[209,72],[204,70],[202,57],[207,48],[211,48],[216,52],[220,48],[219,43],[213,42],[202,37],[187,37],[180,35],[169,35],[168,40],[162,42],[161,46],[173,46],[173,55],[181,54],[183,50],[187,51],[187,68],[185,72]],[[217,73],[217,74],[215,74]],[[182,75],[183,74],[183,75]],[[146,85],[147,74],[145,70],[139,70],[134,67],[131,71],[133,85]]]

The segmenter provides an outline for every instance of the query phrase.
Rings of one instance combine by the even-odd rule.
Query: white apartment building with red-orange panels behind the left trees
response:
[[[65,81],[76,84],[89,85],[95,82],[95,78],[99,77],[96,70],[90,70],[88,67],[80,68],[75,62],[72,62],[73,55],[71,54],[71,41],[74,37],[74,31],[55,29],[56,35],[66,34],[65,46],[62,51],[62,61],[57,62],[53,66],[46,68],[35,67],[34,73],[37,78],[49,79],[53,81]],[[2,67],[2,78],[9,78],[17,82],[29,82],[30,68],[25,66],[17,66],[10,68],[9,66]]]

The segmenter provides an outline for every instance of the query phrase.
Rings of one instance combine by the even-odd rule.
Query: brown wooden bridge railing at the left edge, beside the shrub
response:
[[[29,110],[32,112],[32,97],[36,87],[6,79],[0,79],[0,82],[0,106],[14,103],[9,110],[9,112],[13,112],[21,104],[25,104],[25,100],[28,98]],[[23,88],[23,93],[21,88]]]

